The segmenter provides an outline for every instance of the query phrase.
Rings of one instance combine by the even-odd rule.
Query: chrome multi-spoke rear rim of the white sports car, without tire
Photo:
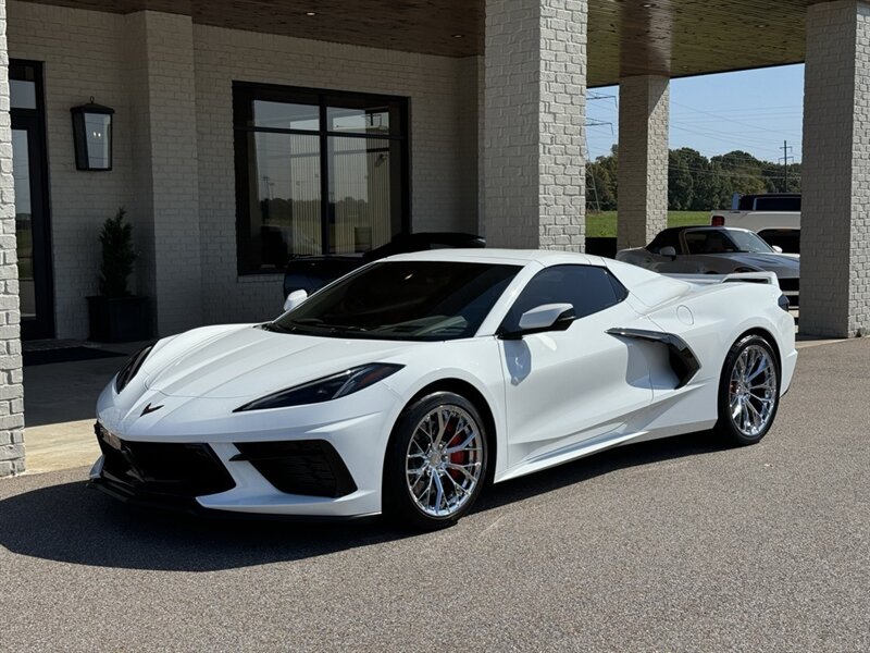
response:
[[[729,386],[731,421],[743,435],[756,438],[768,428],[776,407],[776,361],[770,352],[749,345],[734,361]]]

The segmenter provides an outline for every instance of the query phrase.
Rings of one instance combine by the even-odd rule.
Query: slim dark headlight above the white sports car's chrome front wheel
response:
[[[282,390],[271,395],[254,399],[239,406],[233,412],[244,410],[263,410],[265,408],[286,408],[287,406],[303,406],[306,404],[320,404],[345,397],[359,392],[370,385],[383,381],[390,374],[398,372],[401,365],[386,362],[372,362],[350,368],[332,377],[324,377],[309,381],[302,385]]]

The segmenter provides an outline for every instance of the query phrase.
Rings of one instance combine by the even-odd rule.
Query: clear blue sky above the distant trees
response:
[[[706,157],[739,149],[782,162],[787,141],[788,162],[799,163],[803,106],[803,64],[673,79],[670,147],[691,147]],[[586,107],[594,160],[619,138],[619,88],[591,88]]]

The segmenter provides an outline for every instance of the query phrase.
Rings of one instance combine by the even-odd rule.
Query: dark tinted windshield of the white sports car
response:
[[[520,269],[447,261],[372,263],[264,328],[372,340],[470,337]]]

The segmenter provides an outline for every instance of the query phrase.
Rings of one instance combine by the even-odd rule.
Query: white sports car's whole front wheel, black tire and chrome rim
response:
[[[433,420],[437,420],[438,415],[446,417],[442,438],[431,434],[437,429]],[[468,446],[449,453],[465,441]],[[486,424],[465,397],[452,392],[435,392],[413,402],[402,410],[387,445],[382,496],[384,516],[397,526],[415,530],[437,530],[455,525],[480,496],[487,478],[488,454]],[[420,469],[413,467],[418,461]],[[469,477],[476,479],[473,484]],[[462,485],[468,485],[468,491],[460,492]],[[442,488],[440,495],[438,488]],[[422,496],[415,496],[414,491]],[[437,508],[434,507],[436,498]],[[436,514],[442,512],[442,506],[443,514]]]

